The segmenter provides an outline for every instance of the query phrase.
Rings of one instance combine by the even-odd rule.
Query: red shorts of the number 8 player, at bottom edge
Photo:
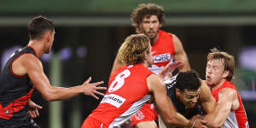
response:
[[[107,125],[104,125],[101,121],[98,121],[97,119],[87,117],[87,119],[84,120],[84,123],[81,128],[108,128]]]

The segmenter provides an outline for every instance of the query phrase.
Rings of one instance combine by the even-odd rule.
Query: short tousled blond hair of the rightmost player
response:
[[[229,71],[229,75],[226,80],[231,81],[233,79],[235,70],[235,58],[224,51],[220,51],[217,48],[211,49],[211,52],[207,55],[207,61],[219,60],[224,64],[224,71]]]

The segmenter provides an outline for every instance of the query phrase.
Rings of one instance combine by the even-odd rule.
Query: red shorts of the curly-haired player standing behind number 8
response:
[[[132,119],[131,125],[134,126],[140,122],[158,120],[158,114],[157,114],[153,104],[145,103],[143,105],[143,108],[141,108],[136,113],[136,115],[134,115],[131,119]]]

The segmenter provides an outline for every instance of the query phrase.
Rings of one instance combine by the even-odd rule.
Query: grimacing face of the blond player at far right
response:
[[[207,62],[206,82],[209,86],[215,86],[224,79],[224,62],[222,60],[210,60]]]

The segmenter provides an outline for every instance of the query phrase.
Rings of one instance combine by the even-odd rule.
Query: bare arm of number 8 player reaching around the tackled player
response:
[[[154,103],[156,104],[161,117],[166,122],[166,125],[169,124],[183,127],[192,127],[193,125],[195,127],[200,126],[176,112],[171,99],[166,94],[166,86],[157,75],[152,74],[148,76],[147,83],[148,89],[154,95]]]

